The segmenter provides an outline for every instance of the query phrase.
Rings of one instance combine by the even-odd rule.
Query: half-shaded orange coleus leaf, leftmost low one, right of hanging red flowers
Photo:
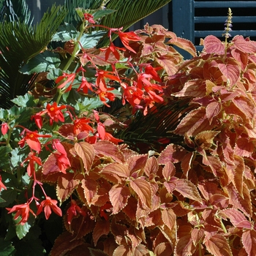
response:
[[[72,192],[78,187],[80,181],[74,179],[74,173],[61,175],[57,181],[56,194],[61,203],[69,198]]]

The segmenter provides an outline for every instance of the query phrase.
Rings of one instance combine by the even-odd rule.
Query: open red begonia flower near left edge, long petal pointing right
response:
[[[41,143],[38,138],[50,138],[50,135],[39,135],[37,131],[31,132],[29,129],[24,129],[23,132],[26,132],[26,135],[21,139],[18,144],[21,148],[27,143],[31,149],[34,151],[41,151]],[[23,132],[21,134],[23,134]]]

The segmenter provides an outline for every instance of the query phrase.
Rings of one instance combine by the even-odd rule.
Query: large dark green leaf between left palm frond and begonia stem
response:
[[[59,67],[61,60],[58,53],[52,53],[49,50],[45,50],[43,53],[39,53],[34,58],[30,59],[27,64],[21,67],[20,72],[26,75],[33,73],[47,72],[50,69]]]

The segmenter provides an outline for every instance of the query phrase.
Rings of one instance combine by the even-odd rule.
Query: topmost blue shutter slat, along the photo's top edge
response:
[[[195,1],[195,8],[256,7],[256,1]]]

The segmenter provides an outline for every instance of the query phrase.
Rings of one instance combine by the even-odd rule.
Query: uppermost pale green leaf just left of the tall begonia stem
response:
[[[71,39],[78,37],[78,31],[75,29],[75,26],[72,24],[65,23],[62,26],[59,26],[58,31],[54,34],[52,41],[56,42],[67,42]]]

